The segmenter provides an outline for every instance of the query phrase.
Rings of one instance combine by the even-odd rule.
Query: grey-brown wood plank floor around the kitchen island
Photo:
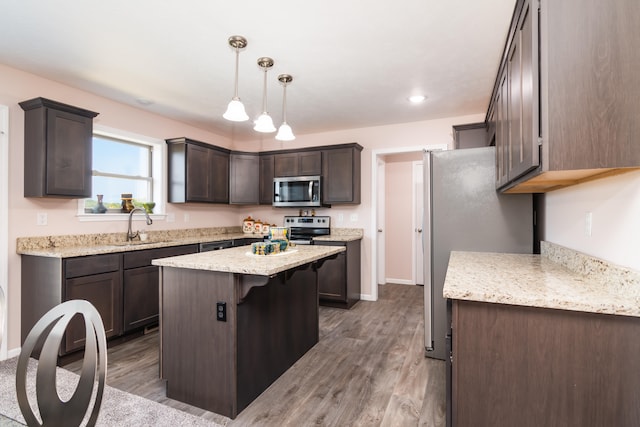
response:
[[[157,332],[109,349],[107,384],[228,426],[444,426],[445,364],[424,357],[422,292],[384,285],[376,302],[321,307],[320,342],[234,420],[165,396]]]

